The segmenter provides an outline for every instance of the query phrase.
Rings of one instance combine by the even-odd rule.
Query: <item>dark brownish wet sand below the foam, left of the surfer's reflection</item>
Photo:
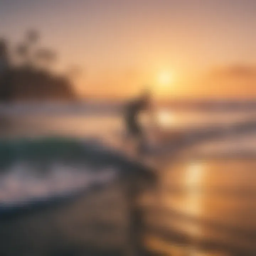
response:
[[[0,219],[0,255],[122,255],[126,200],[118,185]]]

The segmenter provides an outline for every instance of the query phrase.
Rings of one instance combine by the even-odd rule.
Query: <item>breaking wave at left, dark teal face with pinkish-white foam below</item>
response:
[[[117,168],[104,161],[105,151],[73,138],[1,139],[0,208],[113,181]]]

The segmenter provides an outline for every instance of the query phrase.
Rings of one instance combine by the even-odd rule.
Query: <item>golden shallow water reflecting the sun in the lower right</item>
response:
[[[182,161],[167,168],[159,191],[144,198],[153,226],[148,246],[163,252],[172,245],[170,255],[188,248],[196,249],[192,255],[253,255],[255,168],[254,159]]]

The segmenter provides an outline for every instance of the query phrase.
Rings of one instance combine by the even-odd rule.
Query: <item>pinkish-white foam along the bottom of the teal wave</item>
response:
[[[92,170],[87,166],[67,166],[55,162],[46,173],[27,162],[18,162],[0,175],[0,203],[16,203],[72,193],[95,184],[106,184],[116,170]]]

